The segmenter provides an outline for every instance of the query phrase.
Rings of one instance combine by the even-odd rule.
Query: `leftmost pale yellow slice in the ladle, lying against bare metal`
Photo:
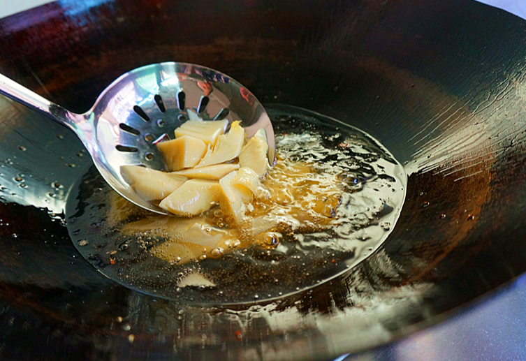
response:
[[[187,181],[187,177],[182,175],[160,172],[139,165],[122,165],[121,172],[124,180],[145,200],[163,199]]]

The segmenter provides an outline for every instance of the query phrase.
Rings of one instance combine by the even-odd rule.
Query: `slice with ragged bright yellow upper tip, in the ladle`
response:
[[[234,121],[228,134],[217,137],[214,148],[206,152],[196,168],[231,161],[240,155],[243,141],[244,129],[240,126],[240,121]]]

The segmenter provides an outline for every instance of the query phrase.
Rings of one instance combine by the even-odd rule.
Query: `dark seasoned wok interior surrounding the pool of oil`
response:
[[[132,68],[203,64],[263,103],[367,131],[409,175],[395,230],[349,274],[279,305],[195,309],[80,258],[48,213],[91,162],[66,128],[0,98],[1,357],[327,360],[513,279],[526,268],[525,35],[518,17],[458,0],[64,0],[0,20],[0,71],[70,110]]]

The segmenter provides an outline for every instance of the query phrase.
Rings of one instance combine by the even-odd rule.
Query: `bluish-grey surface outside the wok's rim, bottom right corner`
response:
[[[444,323],[339,361],[525,360],[525,308],[523,274]]]

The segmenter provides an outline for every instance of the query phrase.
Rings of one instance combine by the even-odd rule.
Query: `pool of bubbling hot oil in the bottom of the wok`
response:
[[[219,207],[151,214],[96,170],[68,200],[68,230],[103,274],[145,293],[213,304],[280,297],[336,277],[386,240],[407,177],[379,142],[334,119],[268,108],[276,164],[240,224]]]

